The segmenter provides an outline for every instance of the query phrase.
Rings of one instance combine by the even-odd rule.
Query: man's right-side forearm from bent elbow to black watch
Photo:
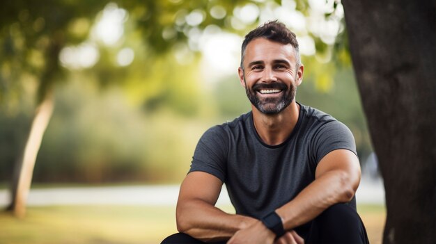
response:
[[[359,179],[350,177],[340,170],[326,172],[276,212],[283,220],[285,229],[294,229],[313,220],[329,206],[349,202],[358,184]]]

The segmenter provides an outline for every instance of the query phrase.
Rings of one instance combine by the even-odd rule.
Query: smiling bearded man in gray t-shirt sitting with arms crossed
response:
[[[360,167],[350,130],[295,101],[295,34],[267,22],[242,43],[252,111],[212,127],[180,186],[179,234],[163,243],[367,243],[355,210]],[[236,214],[215,207],[226,184]]]

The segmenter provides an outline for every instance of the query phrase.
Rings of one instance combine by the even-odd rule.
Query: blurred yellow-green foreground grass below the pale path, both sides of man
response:
[[[370,242],[381,243],[384,206],[359,205],[358,211]],[[173,206],[30,207],[24,219],[0,212],[0,243],[160,243],[176,232],[175,215]]]

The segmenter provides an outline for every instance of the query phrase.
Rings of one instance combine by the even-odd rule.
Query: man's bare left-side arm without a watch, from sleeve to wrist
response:
[[[248,227],[254,220],[233,215],[215,207],[222,182],[212,174],[191,172],[180,186],[177,202],[177,229],[201,241],[231,238],[236,231]]]

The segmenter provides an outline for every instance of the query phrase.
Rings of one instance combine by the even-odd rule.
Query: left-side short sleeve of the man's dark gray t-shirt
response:
[[[224,182],[227,151],[228,138],[224,129],[219,126],[208,129],[197,143],[189,173],[207,172]]]

